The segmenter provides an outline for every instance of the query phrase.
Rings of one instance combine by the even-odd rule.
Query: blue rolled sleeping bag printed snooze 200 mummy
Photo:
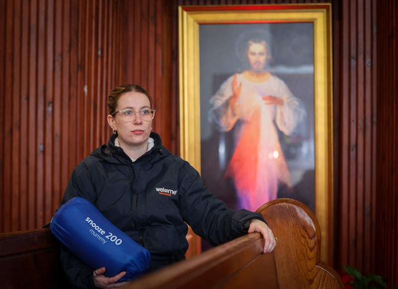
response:
[[[106,277],[125,271],[126,275],[120,282],[141,276],[151,263],[147,249],[118,229],[82,197],[70,199],[57,210],[50,230],[93,270],[105,267]]]

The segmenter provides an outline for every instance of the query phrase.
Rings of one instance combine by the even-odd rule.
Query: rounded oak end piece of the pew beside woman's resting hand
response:
[[[313,212],[298,200],[279,198],[258,210],[277,239],[279,287],[344,288],[340,276],[320,261],[321,231]]]

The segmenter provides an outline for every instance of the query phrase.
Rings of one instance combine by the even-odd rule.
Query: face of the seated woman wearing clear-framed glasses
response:
[[[113,117],[111,115],[107,117],[110,127],[117,130],[121,148],[147,147],[148,137],[152,128],[152,119],[142,120],[139,111],[143,109],[150,110],[150,105],[148,97],[142,93],[128,92],[119,97],[116,111],[122,109],[136,111],[133,120],[130,121],[121,119],[120,113],[113,114]]]

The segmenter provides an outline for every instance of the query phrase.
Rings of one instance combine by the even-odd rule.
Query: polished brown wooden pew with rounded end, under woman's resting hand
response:
[[[320,262],[319,223],[304,204],[279,198],[257,211],[278,238],[273,253],[262,253],[260,234],[248,234],[148,274],[126,288],[344,288],[340,276]]]

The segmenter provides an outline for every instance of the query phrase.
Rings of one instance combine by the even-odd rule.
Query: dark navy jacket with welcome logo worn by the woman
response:
[[[115,136],[73,171],[62,203],[80,196],[151,253],[150,271],[185,259],[189,224],[211,245],[247,232],[261,214],[229,209],[203,186],[199,173],[171,154],[152,132],[154,147],[135,162],[114,145]],[[76,287],[94,288],[93,271],[63,248],[61,263]]]

